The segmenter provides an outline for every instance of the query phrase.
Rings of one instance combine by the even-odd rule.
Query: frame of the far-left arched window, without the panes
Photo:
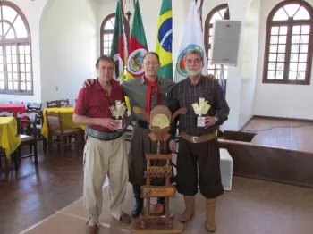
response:
[[[33,78],[33,67],[32,67],[32,46],[31,46],[31,35],[30,35],[30,25],[29,22],[27,21],[24,13],[22,13],[21,9],[16,5],[11,2],[7,1],[1,1],[0,2],[1,6],[8,6],[12,8],[18,15],[21,17],[21,20],[23,21],[25,25],[25,29],[27,31],[28,37],[27,38],[13,38],[13,39],[0,39],[0,46],[3,47],[3,54],[0,56],[3,56],[3,66],[4,66],[4,89],[0,89],[0,94],[4,95],[19,95],[19,96],[33,96],[34,95],[34,78]],[[2,7],[0,8],[2,11]],[[3,13],[1,12],[1,15]],[[4,20],[4,22],[7,22],[8,24],[12,24],[12,22]],[[13,31],[16,33],[15,29],[12,28]],[[4,49],[5,46],[16,46],[16,56],[17,56],[17,67],[18,67],[18,83],[19,83],[19,89],[8,89],[8,77],[7,77],[7,65],[6,64],[6,53],[4,54]],[[30,78],[31,78],[31,90],[21,90],[21,75],[20,75],[20,54],[19,54],[19,46],[30,46]],[[22,64],[27,64],[27,63],[22,63]]]

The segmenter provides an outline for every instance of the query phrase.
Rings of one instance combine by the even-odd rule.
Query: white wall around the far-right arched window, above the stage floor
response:
[[[311,71],[311,85],[279,85],[263,84],[263,64],[266,41],[266,20],[271,10],[278,4],[279,0],[262,1],[260,16],[260,38],[258,46],[258,74],[257,88],[254,101],[254,114],[297,118],[313,119],[313,79]],[[313,4],[312,0],[307,1]]]

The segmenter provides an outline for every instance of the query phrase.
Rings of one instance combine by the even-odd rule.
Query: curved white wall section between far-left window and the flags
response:
[[[86,0],[50,0],[40,21],[42,102],[78,95],[84,79],[95,77],[97,20]]]

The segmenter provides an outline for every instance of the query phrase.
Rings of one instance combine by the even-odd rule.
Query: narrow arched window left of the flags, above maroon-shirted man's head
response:
[[[109,14],[101,24],[101,51],[100,54],[109,55],[113,39],[115,14]]]

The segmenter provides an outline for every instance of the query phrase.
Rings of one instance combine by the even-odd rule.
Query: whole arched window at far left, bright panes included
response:
[[[12,3],[0,2],[0,93],[32,95],[30,28]]]

